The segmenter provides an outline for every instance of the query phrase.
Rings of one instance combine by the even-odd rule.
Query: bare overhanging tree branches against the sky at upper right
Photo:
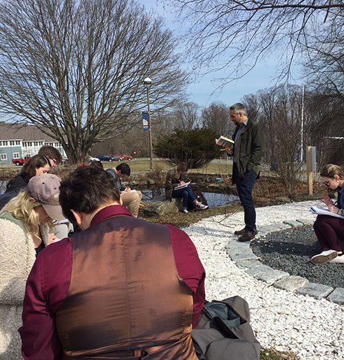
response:
[[[279,59],[279,77],[290,75],[292,63],[314,32],[333,38],[343,28],[342,0],[162,0],[177,8],[189,23],[188,49],[195,68],[228,70],[222,83],[241,78],[264,58]],[[342,36],[338,36],[341,39]]]

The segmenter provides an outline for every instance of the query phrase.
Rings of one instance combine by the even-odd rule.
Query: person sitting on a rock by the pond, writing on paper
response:
[[[182,212],[189,213],[187,207],[189,202],[192,202],[193,206],[197,210],[208,209],[207,205],[198,202],[195,198],[193,190],[191,189],[190,184],[182,187],[181,189],[175,189],[180,185],[185,185],[186,176],[185,174],[188,171],[188,165],[186,162],[180,162],[176,167],[173,167],[166,173],[165,181],[165,196],[166,199],[171,200],[171,198],[182,198]]]

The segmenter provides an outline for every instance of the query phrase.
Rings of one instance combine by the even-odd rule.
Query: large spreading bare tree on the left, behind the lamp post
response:
[[[71,162],[133,126],[131,114],[172,105],[187,75],[175,40],[132,0],[3,0],[0,109],[37,125]],[[178,78],[178,81],[174,79]]]

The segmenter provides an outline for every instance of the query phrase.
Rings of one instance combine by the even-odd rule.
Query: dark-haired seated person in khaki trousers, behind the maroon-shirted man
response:
[[[120,198],[122,199],[123,207],[126,207],[135,218],[138,217],[138,209],[142,198],[141,191],[131,190],[129,187],[125,187],[120,182],[120,179],[130,176],[130,167],[126,162],[122,162],[116,167],[110,167],[106,170],[116,182],[116,189],[120,191]]]

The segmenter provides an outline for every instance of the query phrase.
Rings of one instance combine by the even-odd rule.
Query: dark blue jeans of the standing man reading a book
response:
[[[237,173],[237,166],[233,164],[233,180],[237,185],[237,193],[241,201],[242,206],[244,207],[244,221],[245,229],[247,231],[256,230],[256,211],[255,204],[252,199],[252,189],[255,185],[257,174],[255,171],[250,170],[244,173],[244,176],[239,178]]]

